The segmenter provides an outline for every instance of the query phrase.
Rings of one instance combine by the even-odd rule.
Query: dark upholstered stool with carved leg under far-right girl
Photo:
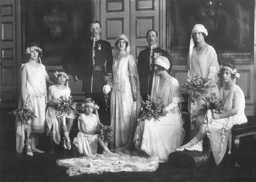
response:
[[[247,122],[241,125],[234,125],[231,129],[231,134],[232,134],[232,144],[235,147],[234,150],[232,150],[231,155],[235,159],[235,165],[234,167],[240,167],[238,164],[238,159],[239,159],[239,153],[238,149],[240,146],[240,138],[241,137],[246,137],[250,135],[255,135],[256,136],[256,122]]]

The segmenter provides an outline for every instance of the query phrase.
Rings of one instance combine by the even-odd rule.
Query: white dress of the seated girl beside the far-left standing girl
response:
[[[49,88],[48,88],[48,92],[51,93],[52,95],[52,102],[54,103],[58,103],[60,102],[60,97],[61,96],[64,96],[65,98],[68,98],[71,94],[71,90],[69,87],[65,87],[64,90],[60,90],[58,89],[58,87],[56,85],[51,85]],[[60,143],[60,125],[61,124],[66,124],[66,123],[63,123],[63,121],[61,121],[61,117],[60,116],[57,116],[56,117],[56,114],[57,114],[57,110],[54,108],[54,107],[48,107],[47,108],[47,111],[46,111],[46,116],[45,116],[45,119],[46,119],[46,136],[49,135],[50,131],[51,131],[51,128],[52,128],[52,138],[54,140],[54,142],[56,144],[59,144]],[[71,118],[71,119],[74,119],[75,118],[75,114],[74,113],[71,113],[70,115],[65,115],[66,118]]]

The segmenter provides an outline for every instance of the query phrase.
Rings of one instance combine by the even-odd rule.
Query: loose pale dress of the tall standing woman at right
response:
[[[193,48],[193,52],[194,50],[195,48]],[[188,61],[187,69],[190,71],[190,76],[192,77],[197,74],[199,77],[211,78],[212,80],[210,81],[210,88],[208,89],[207,95],[216,92],[216,95],[219,96],[219,89],[216,83],[218,81],[220,66],[216,51],[211,45],[207,44],[204,46],[197,56],[192,53],[191,62]],[[188,102],[192,130],[195,126],[195,119],[203,114],[200,113],[199,110],[201,109],[202,104],[204,104],[204,101],[200,97],[195,103],[190,102],[190,100]]]

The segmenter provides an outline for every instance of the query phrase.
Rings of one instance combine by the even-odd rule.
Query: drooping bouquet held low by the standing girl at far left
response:
[[[28,108],[18,108],[12,112],[9,112],[7,114],[13,114],[17,115],[19,118],[19,121],[23,124],[30,124],[30,120],[37,118],[33,111],[31,111]]]

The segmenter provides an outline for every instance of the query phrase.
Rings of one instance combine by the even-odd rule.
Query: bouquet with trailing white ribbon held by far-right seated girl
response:
[[[205,95],[204,104],[202,104],[200,111],[205,113],[204,123],[207,123],[206,135],[210,135],[210,125],[212,124],[212,114],[220,113],[224,106],[225,100],[216,96],[216,93],[211,93],[210,96]]]

